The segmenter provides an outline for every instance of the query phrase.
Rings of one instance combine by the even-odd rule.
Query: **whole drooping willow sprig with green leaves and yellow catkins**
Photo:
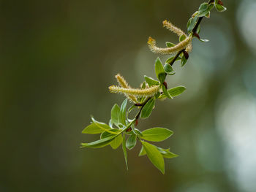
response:
[[[216,8],[217,11],[223,12],[226,8],[220,0],[210,0],[207,3],[200,4],[199,9],[189,18],[187,23],[188,35],[181,31],[180,28],[174,26],[169,21],[163,21],[163,26],[179,37],[177,45],[166,42],[165,48],[157,47],[156,41],[149,37],[148,47],[154,53],[172,55],[162,64],[159,58],[155,61],[155,72],[157,80],[152,77],[144,76],[143,83],[140,88],[131,88],[124,77],[120,74],[116,75],[118,86],[112,85],[109,87],[111,93],[121,93],[127,96],[121,107],[114,104],[111,110],[111,118],[108,124],[99,122],[91,117],[91,124],[83,129],[83,134],[100,134],[99,140],[89,143],[81,143],[81,147],[99,148],[110,145],[114,150],[122,145],[124,158],[128,169],[127,149],[132,150],[139,141],[142,145],[139,156],[147,155],[154,166],[159,169],[162,174],[165,174],[164,158],[175,158],[178,155],[170,152],[168,149],[157,147],[149,142],[162,142],[169,138],[173,131],[167,128],[148,128],[140,131],[138,120],[148,118],[154,109],[157,100],[173,99],[183,93],[186,88],[177,86],[175,88],[167,88],[167,75],[175,74],[173,64],[176,61],[181,61],[181,67],[187,63],[189,53],[192,51],[192,39],[197,37],[202,42],[208,42],[207,39],[200,39],[200,23],[203,18],[210,18],[211,9]],[[175,54],[173,56],[173,54]],[[128,100],[133,104],[127,109]],[[128,115],[132,110],[138,110],[135,118],[129,119]]]

